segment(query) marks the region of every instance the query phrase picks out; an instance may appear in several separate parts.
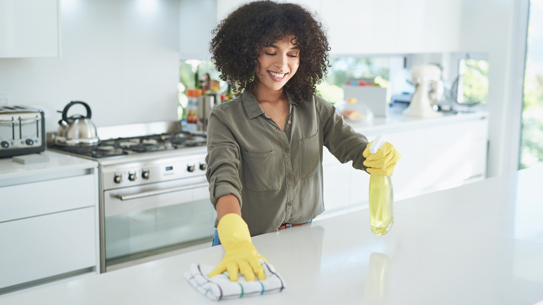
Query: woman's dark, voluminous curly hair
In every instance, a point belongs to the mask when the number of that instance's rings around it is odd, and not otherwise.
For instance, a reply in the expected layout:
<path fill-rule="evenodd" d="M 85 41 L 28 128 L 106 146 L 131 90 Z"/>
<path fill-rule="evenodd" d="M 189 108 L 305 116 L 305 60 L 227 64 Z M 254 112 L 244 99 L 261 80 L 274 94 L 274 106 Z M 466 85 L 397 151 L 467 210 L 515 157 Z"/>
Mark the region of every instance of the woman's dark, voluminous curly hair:
<path fill-rule="evenodd" d="M 255 1 L 230 13 L 212 31 L 212 61 L 223 81 L 237 91 L 253 91 L 258 84 L 255 69 L 262 47 L 272 45 L 285 36 L 299 47 L 299 68 L 285 84 L 285 90 L 301 104 L 315 95 L 316 85 L 326 77 L 329 50 L 322 24 L 305 8 L 294 3 Z"/>

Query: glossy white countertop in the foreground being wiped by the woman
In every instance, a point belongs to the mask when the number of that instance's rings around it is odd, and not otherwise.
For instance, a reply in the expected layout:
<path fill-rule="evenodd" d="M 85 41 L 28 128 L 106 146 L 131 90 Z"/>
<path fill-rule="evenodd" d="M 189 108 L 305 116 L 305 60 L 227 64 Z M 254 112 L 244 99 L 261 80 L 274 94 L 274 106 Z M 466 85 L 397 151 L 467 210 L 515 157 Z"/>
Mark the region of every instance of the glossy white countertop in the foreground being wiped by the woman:
<path fill-rule="evenodd" d="M 368 210 L 253 237 L 283 292 L 235 304 L 535 304 L 543 300 L 543 167 L 395 203 L 372 235 Z M 183 278 L 222 247 L 7 297 L 9 304 L 217 304 Z"/>

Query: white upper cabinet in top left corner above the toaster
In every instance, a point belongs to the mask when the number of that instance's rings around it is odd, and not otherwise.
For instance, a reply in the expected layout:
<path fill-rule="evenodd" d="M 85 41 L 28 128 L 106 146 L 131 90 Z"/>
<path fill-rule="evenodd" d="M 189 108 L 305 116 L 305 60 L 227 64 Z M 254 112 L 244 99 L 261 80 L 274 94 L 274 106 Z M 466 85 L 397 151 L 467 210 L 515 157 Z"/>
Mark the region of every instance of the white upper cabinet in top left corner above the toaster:
<path fill-rule="evenodd" d="M 58 0 L 0 0 L 0 58 L 59 56 Z"/>

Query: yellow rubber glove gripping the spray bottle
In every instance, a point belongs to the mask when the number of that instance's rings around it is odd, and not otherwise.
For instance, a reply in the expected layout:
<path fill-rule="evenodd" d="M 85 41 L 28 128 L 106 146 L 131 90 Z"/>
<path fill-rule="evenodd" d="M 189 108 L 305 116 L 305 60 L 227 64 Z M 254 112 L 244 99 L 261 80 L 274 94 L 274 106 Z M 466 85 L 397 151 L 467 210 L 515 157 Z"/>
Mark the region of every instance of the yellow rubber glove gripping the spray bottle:
<path fill-rule="evenodd" d="M 373 142 L 373 141 L 372 141 Z M 368 167 L 366 171 L 375 175 L 392 175 L 394 166 L 400 159 L 401 155 L 391 143 L 385 142 L 377 153 L 370 153 L 370 142 L 366 146 L 362 155 L 365 157 L 363 164 Z"/>

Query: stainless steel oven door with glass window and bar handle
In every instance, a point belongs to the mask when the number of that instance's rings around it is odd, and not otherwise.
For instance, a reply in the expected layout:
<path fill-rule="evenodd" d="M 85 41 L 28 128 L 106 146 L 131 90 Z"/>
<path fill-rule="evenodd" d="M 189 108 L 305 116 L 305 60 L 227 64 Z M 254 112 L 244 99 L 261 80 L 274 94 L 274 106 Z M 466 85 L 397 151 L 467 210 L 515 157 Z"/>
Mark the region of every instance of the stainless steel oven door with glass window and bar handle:
<path fill-rule="evenodd" d="M 216 216 L 205 176 L 104 191 L 102 264 L 109 271 L 194 244 L 211 245 Z"/>

